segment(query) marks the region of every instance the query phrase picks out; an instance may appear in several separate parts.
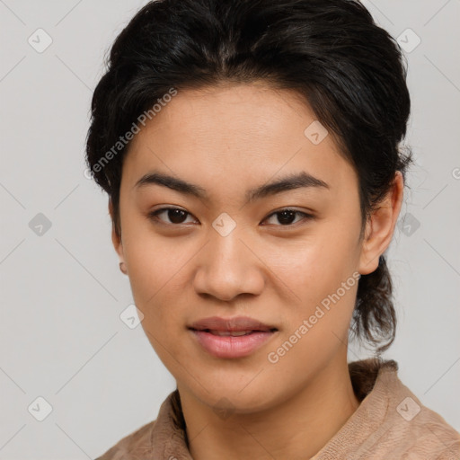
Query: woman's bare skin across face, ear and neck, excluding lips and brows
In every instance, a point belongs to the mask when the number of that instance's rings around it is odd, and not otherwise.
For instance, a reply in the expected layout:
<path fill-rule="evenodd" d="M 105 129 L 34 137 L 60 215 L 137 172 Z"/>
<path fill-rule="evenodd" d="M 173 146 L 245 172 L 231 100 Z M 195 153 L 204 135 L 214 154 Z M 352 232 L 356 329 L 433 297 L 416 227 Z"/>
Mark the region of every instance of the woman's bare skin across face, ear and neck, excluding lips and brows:
<path fill-rule="evenodd" d="M 396 173 L 359 240 L 358 177 L 331 135 L 318 145 L 305 137 L 314 119 L 296 93 L 262 83 L 184 90 L 141 129 L 123 164 L 121 237 L 113 231 L 112 241 L 144 331 L 177 381 L 196 460 L 310 458 L 358 408 L 347 364 L 358 283 L 278 362 L 268 359 L 342 282 L 376 270 L 403 199 Z M 153 171 L 197 184 L 208 198 L 135 187 Z M 329 189 L 245 199 L 299 172 Z M 189 214 L 179 223 L 167 212 L 149 217 L 168 207 Z M 314 218 L 283 225 L 274 214 L 283 208 Z M 226 236 L 212 226 L 224 212 L 236 224 Z M 187 326 L 215 315 L 251 316 L 278 332 L 249 357 L 214 358 Z M 213 410 L 222 404 L 226 416 Z"/>

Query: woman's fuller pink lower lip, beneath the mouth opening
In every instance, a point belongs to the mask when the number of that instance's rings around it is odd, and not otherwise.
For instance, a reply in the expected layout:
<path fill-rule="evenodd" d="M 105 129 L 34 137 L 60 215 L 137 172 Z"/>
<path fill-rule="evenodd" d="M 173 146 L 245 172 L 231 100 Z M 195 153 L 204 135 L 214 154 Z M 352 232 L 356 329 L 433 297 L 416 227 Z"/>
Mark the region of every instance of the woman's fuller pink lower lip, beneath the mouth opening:
<path fill-rule="evenodd" d="M 243 358 L 250 355 L 273 336 L 275 332 L 258 331 L 240 336 L 220 336 L 210 332 L 194 331 L 199 344 L 216 358 Z"/>

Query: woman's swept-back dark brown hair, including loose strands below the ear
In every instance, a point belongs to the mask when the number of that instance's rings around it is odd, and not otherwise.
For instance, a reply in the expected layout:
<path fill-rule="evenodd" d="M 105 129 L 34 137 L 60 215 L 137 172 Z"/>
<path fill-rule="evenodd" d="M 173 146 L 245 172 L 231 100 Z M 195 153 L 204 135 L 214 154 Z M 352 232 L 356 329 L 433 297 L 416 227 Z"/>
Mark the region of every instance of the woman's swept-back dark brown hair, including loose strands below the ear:
<path fill-rule="evenodd" d="M 264 80 L 304 97 L 358 175 L 361 236 L 395 172 L 405 179 L 411 163 L 410 150 L 399 147 L 411 106 L 403 54 L 358 1 L 157 0 L 121 31 L 107 66 L 93 93 L 86 160 L 111 197 L 118 234 L 129 144 L 113 146 L 171 88 Z M 395 326 L 382 255 L 359 279 L 350 331 L 381 352 Z"/>

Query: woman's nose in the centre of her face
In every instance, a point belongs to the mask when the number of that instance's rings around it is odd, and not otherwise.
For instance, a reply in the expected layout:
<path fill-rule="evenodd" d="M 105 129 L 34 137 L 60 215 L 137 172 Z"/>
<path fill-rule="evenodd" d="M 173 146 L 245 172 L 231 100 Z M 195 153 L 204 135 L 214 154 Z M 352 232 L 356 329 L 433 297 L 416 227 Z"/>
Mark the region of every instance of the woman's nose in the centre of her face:
<path fill-rule="evenodd" d="M 264 265 L 251 246 L 236 229 L 222 236 L 211 228 L 197 258 L 196 292 L 226 302 L 241 294 L 260 295 L 266 279 Z"/>

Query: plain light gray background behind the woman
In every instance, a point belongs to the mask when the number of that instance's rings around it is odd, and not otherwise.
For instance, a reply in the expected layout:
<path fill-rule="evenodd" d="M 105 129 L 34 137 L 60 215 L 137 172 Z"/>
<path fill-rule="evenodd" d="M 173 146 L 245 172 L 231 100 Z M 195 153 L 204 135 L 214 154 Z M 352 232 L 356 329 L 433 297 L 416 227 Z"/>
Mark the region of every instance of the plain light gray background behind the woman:
<path fill-rule="evenodd" d="M 102 59 L 145 3 L 0 0 L 1 459 L 102 455 L 155 420 L 175 387 L 141 326 L 119 318 L 132 303 L 128 279 L 107 198 L 84 177 Z M 460 0 L 365 3 L 410 49 L 407 143 L 417 160 L 389 250 L 399 327 L 384 356 L 459 430 Z M 46 44 L 39 28 L 52 39 L 42 52 L 28 42 Z M 408 28 L 421 40 L 414 49 Z M 365 356 L 350 348 L 349 360 Z M 52 406 L 42 421 L 39 396 Z"/>

